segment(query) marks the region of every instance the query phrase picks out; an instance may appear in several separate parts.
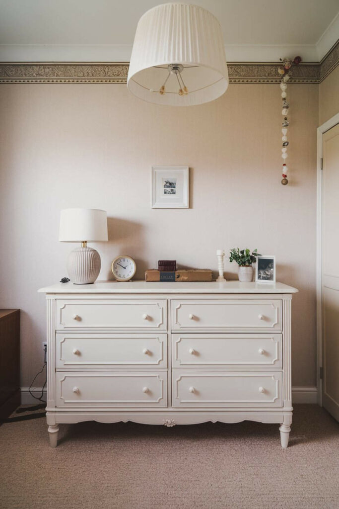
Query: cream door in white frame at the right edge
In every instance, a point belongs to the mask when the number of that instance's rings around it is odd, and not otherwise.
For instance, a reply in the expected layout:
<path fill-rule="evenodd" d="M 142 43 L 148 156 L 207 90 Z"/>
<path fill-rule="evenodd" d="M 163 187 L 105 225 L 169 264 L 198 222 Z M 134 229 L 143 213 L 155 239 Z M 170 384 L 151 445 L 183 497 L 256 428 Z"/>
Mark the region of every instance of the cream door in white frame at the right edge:
<path fill-rule="evenodd" d="M 322 401 L 339 420 L 339 124 L 322 143 Z"/>

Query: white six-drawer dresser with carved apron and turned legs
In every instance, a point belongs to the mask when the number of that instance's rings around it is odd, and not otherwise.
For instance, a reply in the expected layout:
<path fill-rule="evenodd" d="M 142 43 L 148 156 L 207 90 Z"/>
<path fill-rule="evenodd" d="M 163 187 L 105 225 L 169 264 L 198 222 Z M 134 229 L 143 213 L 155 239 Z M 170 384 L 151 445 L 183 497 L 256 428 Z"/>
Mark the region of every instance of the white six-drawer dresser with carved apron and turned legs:
<path fill-rule="evenodd" d="M 295 288 L 217 282 L 71 282 L 47 299 L 47 424 L 292 422 Z"/>

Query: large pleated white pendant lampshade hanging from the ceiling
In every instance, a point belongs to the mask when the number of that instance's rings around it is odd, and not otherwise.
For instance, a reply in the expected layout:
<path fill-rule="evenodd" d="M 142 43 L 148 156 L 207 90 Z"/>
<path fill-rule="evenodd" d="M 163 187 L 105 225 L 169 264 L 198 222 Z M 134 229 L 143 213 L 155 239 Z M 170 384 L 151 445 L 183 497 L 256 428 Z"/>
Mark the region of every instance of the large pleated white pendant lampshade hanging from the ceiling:
<path fill-rule="evenodd" d="M 180 75 L 187 94 L 178 94 L 178 78 L 169 76 L 169 64 L 183 66 Z M 162 4 L 147 11 L 137 26 L 127 86 L 140 99 L 172 106 L 202 104 L 224 94 L 228 71 L 217 18 L 187 4 Z"/>

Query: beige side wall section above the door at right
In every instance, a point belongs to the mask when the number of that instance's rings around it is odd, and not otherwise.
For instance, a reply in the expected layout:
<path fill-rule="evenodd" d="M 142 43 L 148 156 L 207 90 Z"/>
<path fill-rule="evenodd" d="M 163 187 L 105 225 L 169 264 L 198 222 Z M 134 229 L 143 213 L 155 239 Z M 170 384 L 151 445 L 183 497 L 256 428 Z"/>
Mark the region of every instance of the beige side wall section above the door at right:
<path fill-rule="evenodd" d="M 339 66 L 319 85 L 319 125 L 339 112 Z"/>

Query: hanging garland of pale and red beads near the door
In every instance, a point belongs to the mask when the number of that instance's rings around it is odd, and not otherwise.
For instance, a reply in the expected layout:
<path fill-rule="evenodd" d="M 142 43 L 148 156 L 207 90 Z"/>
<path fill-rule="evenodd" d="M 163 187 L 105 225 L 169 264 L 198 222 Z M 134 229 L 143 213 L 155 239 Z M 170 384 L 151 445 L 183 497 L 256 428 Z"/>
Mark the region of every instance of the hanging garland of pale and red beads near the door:
<path fill-rule="evenodd" d="M 281 91 L 282 91 L 282 100 L 283 100 L 282 115 L 284 116 L 284 120 L 282 122 L 282 127 L 283 127 L 282 128 L 282 133 L 283 133 L 283 136 L 282 136 L 282 142 L 283 142 L 282 158 L 284 159 L 282 184 L 283 184 L 283 186 L 286 186 L 286 184 L 288 184 L 288 180 L 287 180 L 288 166 L 287 166 L 285 161 L 286 161 L 286 159 L 288 157 L 288 155 L 287 155 L 287 147 L 288 147 L 288 144 L 289 144 L 288 139 L 287 139 L 287 128 L 288 128 L 288 126 L 290 124 L 289 120 L 287 118 L 287 115 L 289 113 L 290 105 L 287 102 L 287 92 L 286 92 L 286 89 L 287 89 L 287 81 L 292 76 L 291 67 L 292 67 L 292 65 L 300 64 L 301 57 L 300 56 L 296 56 L 293 61 L 291 59 L 288 59 L 288 58 L 280 59 L 280 60 L 281 60 L 283 65 L 278 68 L 278 72 L 279 72 L 279 74 L 282 75 L 282 79 L 281 79 L 281 83 L 280 83 L 280 88 L 281 88 Z"/>

